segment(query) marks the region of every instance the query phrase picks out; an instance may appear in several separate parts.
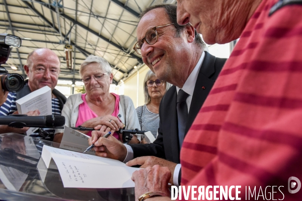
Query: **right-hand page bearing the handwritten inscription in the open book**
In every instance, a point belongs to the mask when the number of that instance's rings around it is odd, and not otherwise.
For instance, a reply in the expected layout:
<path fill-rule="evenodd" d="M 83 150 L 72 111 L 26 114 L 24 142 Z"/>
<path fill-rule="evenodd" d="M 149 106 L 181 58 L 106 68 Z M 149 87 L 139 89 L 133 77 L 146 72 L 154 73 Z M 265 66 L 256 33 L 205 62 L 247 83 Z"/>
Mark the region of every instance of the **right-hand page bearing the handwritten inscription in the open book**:
<path fill-rule="evenodd" d="M 132 173 L 139 168 L 109 166 L 54 158 L 64 187 L 126 188 L 134 187 Z"/>

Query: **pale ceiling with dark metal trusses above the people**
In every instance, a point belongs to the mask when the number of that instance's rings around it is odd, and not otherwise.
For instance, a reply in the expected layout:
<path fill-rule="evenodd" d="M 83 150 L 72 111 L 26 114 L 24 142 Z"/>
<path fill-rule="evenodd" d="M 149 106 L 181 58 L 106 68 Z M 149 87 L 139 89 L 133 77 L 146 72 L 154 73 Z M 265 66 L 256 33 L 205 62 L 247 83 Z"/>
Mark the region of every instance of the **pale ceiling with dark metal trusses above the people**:
<path fill-rule="evenodd" d="M 0 33 L 22 39 L 3 66 L 26 77 L 28 53 L 47 47 L 61 60 L 60 79 L 79 81 L 81 63 L 94 54 L 109 62 L 118 83 L 143 63 L 132 49 L 137 17 L 148 6 L 170 3 L 176 0 L 0 0 Z M 69 67 L 65 45 L 72 46 Z"/>

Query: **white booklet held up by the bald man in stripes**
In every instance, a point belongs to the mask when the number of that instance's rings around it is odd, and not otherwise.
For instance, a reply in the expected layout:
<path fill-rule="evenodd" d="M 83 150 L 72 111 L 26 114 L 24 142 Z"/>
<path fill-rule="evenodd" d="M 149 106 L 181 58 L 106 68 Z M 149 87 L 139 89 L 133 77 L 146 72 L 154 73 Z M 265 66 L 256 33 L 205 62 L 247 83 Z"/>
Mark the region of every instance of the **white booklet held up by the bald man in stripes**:
<path fill-rule="evenodd" d="M 19 114 L 26 114 L 29 111 L 39 110 L 40 116 L 52 114 L 51 108 L 51 88 L 44 86 L 30 94 L 16 100 Z M 29 128 L 26 134 L 29 136 L 38 128 Z"/>

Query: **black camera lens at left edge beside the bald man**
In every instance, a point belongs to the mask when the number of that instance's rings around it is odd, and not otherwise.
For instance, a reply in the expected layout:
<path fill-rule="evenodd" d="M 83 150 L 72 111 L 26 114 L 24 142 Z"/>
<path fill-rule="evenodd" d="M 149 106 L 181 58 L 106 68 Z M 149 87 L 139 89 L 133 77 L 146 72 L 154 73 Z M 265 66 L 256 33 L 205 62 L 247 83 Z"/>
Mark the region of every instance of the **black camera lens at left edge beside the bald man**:
<path fill-rule="evenodd" d="M 8 73 L 1 77 L 2 88 L 10 92 L 18 92 L 24 86 L 24 79 L 17 73 Z"/>

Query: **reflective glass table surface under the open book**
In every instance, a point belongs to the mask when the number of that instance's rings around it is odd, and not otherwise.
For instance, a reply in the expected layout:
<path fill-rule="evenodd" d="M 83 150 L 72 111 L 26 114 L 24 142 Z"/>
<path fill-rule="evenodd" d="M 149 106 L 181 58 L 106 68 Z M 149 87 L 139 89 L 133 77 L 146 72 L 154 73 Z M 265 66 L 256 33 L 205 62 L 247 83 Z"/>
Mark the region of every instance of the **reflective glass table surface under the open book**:
<path fill-rule="evenodd" d="M 135 200 L 134 188 L 64 188 L 58 170 L 47 169 L 43 145 L 58 143 L 9 133 L 0 135 L 2 200 Z"/>

